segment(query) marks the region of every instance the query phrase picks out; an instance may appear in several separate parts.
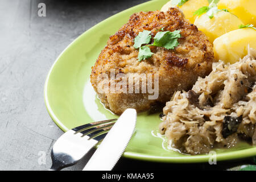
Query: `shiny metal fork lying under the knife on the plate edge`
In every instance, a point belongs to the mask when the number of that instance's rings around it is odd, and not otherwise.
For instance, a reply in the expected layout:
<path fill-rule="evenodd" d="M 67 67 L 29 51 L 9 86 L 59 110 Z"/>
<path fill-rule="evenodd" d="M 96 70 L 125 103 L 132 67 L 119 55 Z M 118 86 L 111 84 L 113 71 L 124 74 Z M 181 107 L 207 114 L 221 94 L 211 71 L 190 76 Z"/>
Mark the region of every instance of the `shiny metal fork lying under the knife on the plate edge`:
<path fill-rule="evenodd" d="M 52 167 L 57 171 L 79 162 L 98 142 L 100 142 L 117 119 L 108 119 L 75 127 L 61 135 L 51 151 Z"/>

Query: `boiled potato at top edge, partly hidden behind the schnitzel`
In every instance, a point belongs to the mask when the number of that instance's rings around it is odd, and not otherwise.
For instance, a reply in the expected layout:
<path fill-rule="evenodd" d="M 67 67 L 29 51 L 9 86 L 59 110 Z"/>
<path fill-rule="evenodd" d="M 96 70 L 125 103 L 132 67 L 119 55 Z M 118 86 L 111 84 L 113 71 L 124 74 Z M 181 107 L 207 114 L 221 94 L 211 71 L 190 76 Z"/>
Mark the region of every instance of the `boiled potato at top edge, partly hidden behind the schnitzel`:
<path fill-rule="evenodd" d="M 183 11 L 185 18 L 189 20 L 189 22 L 194 23 L 196 19 L 196 15 L 194 16 L 194 12 L 198 10 L 202 6 L 209 6 L 208 0 L 188 0 L 182 6 L 178 6 L 181 11 Z M 170 7 L 175 7 L 172 5 L 171 1 L 167 2 L 161 9 L 161 11 L 168 11 Z"/>

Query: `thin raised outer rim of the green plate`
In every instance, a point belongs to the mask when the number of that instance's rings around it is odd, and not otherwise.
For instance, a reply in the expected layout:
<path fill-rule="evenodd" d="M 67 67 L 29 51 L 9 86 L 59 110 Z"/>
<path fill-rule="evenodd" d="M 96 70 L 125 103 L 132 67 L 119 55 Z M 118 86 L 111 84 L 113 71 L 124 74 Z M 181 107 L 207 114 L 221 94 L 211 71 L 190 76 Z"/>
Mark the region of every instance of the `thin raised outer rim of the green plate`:
<path fill-rule="evenodd" d="M 64 132 L 68 131 L 68 128 L 56 117 L 54 114 L 53 110 L 51 109 L 51 105 L 49 104 L 48 100 L 48 94 L 47 94 L 47 88 L 48 88 L 48 81 L 51 76 L 52 70 L 55 67 L 56 63 L 60 59 L 60 57 L 64 54 L 65 51 L 69 47 L 71 47 L 78 39 L 81 38 L 81 36 L 85 36 L 88 34 L 90 31 L 92 31 L 94 28 L 100 26 L 101 23 L 107 22 L 109 19 L 114 18 L 115 16 L 118 16 L 119 14 L 125 13 L 126 11 L 130 11 L 131 9 L 135 9 L 138 6 L 142 6 L 145 4 L 152 3 L 152 1 L 147 1 L 144 3 L 141 3 L 139 5 L 130 7 L 129 9 L 120 11 L 117 14 L 114 14 L 112 16 L 109 16 L 109 18 L 106 18 L 102 20 L 101 22 L 95 24 L 93 27 L 90 27 L 88 30 L 83 32 L 81 35 L 79 35 L 76 39 L 74 39 L 71 43 L 68 44 L 67 47 L 60 53 L 59 56 L 55 59 L 53 62 L 51 68 L 49 69 L 46 77 L 46 81 L 44 82 L 44 103 L 46 104 L 46 109 L 48 111 L 49 116 L 52 118 L 53 122 Z M 243 151 L 241 154 L 241 151 Z M 235 156 L 233 156 L 235 155 Z M 129 152 L 125 151 L 123 155 L 125 158 L 130 158 L 130 159 L 138 159 L 138 160 L 146 160 L 146 161 L 151 161 L 151 162 L 163 162 L 163 163 L 202 163 L 202 162 L 208 162 L 210 156 L 209 155 L 190 155 L 187 156 L 186 158 L 183 158 L 182 156 L 176 156 L 176 157 L 167 157 L 167 156 L 155 156 L 155 155 L 147 155 L 147 154 L 141 154 L 138 152 Z M 256 156 L 256 146 L 252 148 L 246 148 L 238 151 L 230 151 L 230 152 L 224 152 L 221 154 L 217 154 L 216 160 L 217 161 L 222 161 L 222 160 L 234 160 L 234 159 L 243 159 L 243 158 L 248 158 Z"/>

